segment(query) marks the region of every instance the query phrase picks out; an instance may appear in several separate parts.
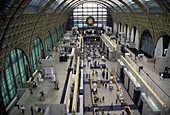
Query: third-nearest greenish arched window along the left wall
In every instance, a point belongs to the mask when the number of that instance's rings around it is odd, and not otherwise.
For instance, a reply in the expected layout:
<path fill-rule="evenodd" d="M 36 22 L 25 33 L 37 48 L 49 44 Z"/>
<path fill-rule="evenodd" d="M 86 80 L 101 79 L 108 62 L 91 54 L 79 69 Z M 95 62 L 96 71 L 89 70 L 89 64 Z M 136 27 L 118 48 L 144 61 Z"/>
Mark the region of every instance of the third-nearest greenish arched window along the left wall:
<path fill-rule="evenodd" d="M 50 32 L 47 33 L 46 39 L 45 39 L 45 56 L 49 54 L 49 51 L 53 48 L 52 46 L 52 39 Z"/>

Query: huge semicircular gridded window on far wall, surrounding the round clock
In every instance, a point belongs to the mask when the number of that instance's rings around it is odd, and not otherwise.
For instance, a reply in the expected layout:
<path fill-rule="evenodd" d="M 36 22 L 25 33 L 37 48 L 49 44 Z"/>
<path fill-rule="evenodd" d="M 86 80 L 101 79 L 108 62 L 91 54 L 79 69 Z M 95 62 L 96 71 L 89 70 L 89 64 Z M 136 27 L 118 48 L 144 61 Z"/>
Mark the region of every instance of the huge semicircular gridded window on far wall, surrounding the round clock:
<path fill-rule="evenodd" d="M 92 16 L 95 19 L 95 23 L 92 26 L 86 24 L 86 19 L 89 16 Z M 111 27 L 113 25 L 111 15 L 107 9 L 93 2 L 84 3 L 75 8 L 69 19 L 69 24 L 73 25 L 72 23 L 79 28 L 101 29 L 104 25 Z"/>

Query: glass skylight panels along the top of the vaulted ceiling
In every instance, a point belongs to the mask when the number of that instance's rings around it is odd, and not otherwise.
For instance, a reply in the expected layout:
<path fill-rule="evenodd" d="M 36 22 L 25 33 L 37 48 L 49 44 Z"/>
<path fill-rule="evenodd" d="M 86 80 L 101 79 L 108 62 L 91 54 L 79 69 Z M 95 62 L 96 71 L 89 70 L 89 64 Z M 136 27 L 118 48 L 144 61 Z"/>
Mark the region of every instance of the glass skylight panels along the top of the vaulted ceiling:
<path fill-rule="evenodd" d="M 14 0 L 0 0 L 0 15 L 5 15 Z M 163 9 L 155 0 L 56 0 L 50 7 L 44 7 L 50 0 L 32 0 L 25 8 L 23 14 L 38 14 L 43 8 L 46 13 L 71 12 L 75 7 L 84 2 L 96 2 L 106 6 L 113 12 L 142 12 L 143 8 L 150 13 L 163 12 Z M 170 3 L 170 0 L 167 0 Z M 142 5 L 144 7 L 142 7 Z M 57 9 L 57 10 L 56 10 Z"/>

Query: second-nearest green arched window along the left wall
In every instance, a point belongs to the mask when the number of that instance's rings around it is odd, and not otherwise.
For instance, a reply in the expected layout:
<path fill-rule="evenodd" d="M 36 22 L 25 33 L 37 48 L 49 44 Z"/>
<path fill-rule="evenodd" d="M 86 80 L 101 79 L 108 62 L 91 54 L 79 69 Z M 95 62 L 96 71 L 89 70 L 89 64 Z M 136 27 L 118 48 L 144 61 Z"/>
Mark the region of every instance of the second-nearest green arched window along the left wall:
<path fill-rule="evenodd" d="M 39 38 L 34 40 L 34 45 L 32 47 L 32 57 L 31 57 L 31 67 L 32 72 L 34 72 L 38 68 L 38 61 L 44 58 L 44 50 L 42 42 Z"/>

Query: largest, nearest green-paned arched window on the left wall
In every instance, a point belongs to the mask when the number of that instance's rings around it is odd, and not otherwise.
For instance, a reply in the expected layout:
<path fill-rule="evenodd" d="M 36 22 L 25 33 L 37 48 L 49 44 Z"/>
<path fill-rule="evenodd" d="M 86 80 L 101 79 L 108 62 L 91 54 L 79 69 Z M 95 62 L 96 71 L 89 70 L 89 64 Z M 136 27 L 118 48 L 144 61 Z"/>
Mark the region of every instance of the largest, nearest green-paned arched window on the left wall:
<path fill-rule="evenodd" d="M 30 77 L 26 55 L 20 49 L 14 49 L 7 59 L 2 77 L 2 97 L 5 107 L 14 99 L 17 88 L 22 87 Z"/>

